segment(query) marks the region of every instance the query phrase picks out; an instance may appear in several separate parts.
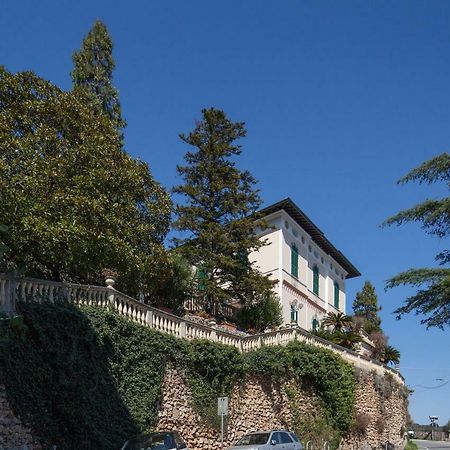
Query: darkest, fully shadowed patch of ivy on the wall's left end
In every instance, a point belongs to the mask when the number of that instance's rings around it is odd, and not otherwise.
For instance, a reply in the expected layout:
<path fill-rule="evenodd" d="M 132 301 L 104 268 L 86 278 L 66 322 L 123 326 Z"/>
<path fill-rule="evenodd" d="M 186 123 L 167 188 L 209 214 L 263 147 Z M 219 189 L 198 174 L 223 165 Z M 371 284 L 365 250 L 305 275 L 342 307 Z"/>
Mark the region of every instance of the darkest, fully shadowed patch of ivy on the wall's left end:
<path fill-rule="evenodd" d="M 105 348 L 88 318 L 71 306 L 30 304 L 22 312 L 26 339 L 11 332 L 0 340 L 0 379 L 36 437 L 47 448 L 106 450 L 135 434 L 111 375 L 112 344 Z"/>

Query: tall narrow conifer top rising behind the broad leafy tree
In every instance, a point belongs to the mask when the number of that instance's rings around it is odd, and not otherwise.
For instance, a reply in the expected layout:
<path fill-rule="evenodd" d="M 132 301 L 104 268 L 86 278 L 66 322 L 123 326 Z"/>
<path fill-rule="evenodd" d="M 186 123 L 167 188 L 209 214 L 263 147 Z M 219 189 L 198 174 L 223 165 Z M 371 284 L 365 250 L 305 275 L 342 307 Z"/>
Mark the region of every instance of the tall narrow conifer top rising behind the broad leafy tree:
<path fill-rule="evenodd" d="M 100 108 L 113 122 L 119 134 L 125 126 L 119 103 L 119 94 L 112 84 L 115 68 L 113 43 L 106 26 L 97 20 L 83 39 L 81 49 L 72 59 L 74 90 L 85 89 L 91 96 L 92 106 Z"/>

